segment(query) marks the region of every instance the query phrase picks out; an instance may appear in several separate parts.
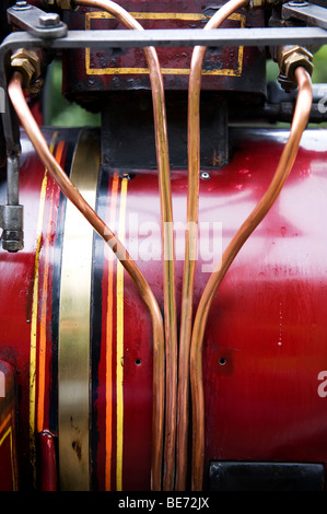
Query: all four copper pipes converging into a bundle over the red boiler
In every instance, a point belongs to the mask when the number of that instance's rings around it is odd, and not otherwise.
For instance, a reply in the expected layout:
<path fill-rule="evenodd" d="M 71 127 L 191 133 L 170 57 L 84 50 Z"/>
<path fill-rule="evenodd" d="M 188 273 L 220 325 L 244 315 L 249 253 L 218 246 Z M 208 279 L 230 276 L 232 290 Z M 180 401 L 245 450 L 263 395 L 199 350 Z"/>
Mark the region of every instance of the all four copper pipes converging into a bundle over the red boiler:
<path fill-rule="evenodd" d="M 116 15 L 129 28 L 142 30 L 132 16 L 124 9 L 110 1 L 80 0 L 78 3 L 102 8 Z M 215 28 L 235 10 L 247 4 L 247 0 L 231 0 L 223 5 L 220 11 L 206 25 L 206 30 Z M 160 191 L 162 205 L 163 234 L 164 226 L 173 227 L 172 196 L 170 185 L 168 148 L 166 135 L 166 118 L 164 106 L 164 91 L 162 75 L 154 48 L 144 49 L 150 69 L 150 78 L 153 93 L 153 107 L 155 118 L 156 151 L 160 175 Z M 253 213 L 241 226 L 234 238 L 231 241 L 222 257 L 222 266 L 212 273 L 201 296 L 194 328 L 191 329 L 192 316 L 192 290 L 195 273 L 195 256 L 197 250 L 197 225 L 198 225 L 198 198 L 199 198 L 199 98 L 201 83 L 201 67 L 206 52 L 206 47 L 196 47 L 192 55 L 190 81 L 189 81 L 189 110 L 188 110 L 188 200 L 186 233 L 186 253 L 183 282 L 182 303 L 182 326 L 180 326 L 180 353 L 179 353 L 179 375 L 178 375 L 178 433 L 177 433 L 177 467 L 176 467 L 176 490 L 185 490 L 187 471 L 187 427 L 188 427 L 188 379 L 191 382 L 192 399 L 192 489 L 202 488 L 203 455 L 205 455 L 205 400 L 202 386 L 202 342 L 207 318 L 209 315 L 212 299 L 225 276 L 229 267 L 236 257 L 245 241 L 260 223 L 278 197 L 284 184 L 293 162 L 295 160 L 300 139 L 306 126 L 308 113 L 312 104 L 311 79 L 303 68 L 297 68 L 295 77 L 299 83 L 299 97 L 294 118 L 291 127 L 289 141 L 284 148 L 275 177 Z M 164 276 L 171 280 L 164 281 L 170 284 L 164 291 L 165 299 L 165 335 L 163 320 L 153 293 L 145 279 L 132 261 L 127 250 L 117 240 L 109 227 L 97 217 L 93 209 L 85 202 L 73 184 L 60 168 L 52 157 L 46 141 L 44 140 L 37 124 L 35 122 L 22 91 L 22 77 L 14 73 L 9 86 L 9 94 L 13 106 L 24 126 L 36 152 L 40 156 L 45 166 L 54 179 L 58 183 L 66 196 L 75 205 L 94 230 L 116 253 L 122 266 L 135 281 L 143 301 L 151 314 L 153 324 L 154 341 L 154 369 L 153 369 L 153 452 L 152 452 L 152 489 L 161 489 L 161 466 L 163 451 L 163 419 L 164 419 L 164 339 L 166 337 L 166 362 L 167 362 L 167 409 L 166 409 L 166 435 L 165 435 L 165 476 L 164 489 L 174 488 L 174 452 L 175 452 L 175 428 L 176 428 L 176 375 L 177 375 L 177 336 L 176 336 L 176 309 L 175 309 L 175 268 L 174 268 L 174 243 L 173 234 L 168 234 L 170 257 L 164 265 Z M 165 222 L 170 221 L 168 225 Z M 173 289 L 172 289 L 173 288 Z M 170 299 L 170 301 L 168 301 Z M 189 371 L 190 354 L 190 371 Z"/>

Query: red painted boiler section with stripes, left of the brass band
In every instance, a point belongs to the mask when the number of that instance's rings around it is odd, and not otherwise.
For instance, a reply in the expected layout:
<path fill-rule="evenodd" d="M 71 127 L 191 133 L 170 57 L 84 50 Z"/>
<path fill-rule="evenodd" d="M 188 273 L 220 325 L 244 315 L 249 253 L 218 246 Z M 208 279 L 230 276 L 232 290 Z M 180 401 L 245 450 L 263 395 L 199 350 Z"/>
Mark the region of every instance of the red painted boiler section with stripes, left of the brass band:
<path fill-rule="evenodd" d="M 58 143 L 62 143 L 60 151 L 61 164 L 68 160 L 70 166 L 71 139 L 74 136 L 61 131 L 61 139 L 58 140 L 52 132 L 45 132 L 48 144 L 56 141 L 54 152 L 58 151 Z M 55 153 L 56 154 L 56 153 Z M 67 156 L 68 155 L 68 156 Z M 33 170 L 33 173 L 31 173 Z M 54 185 L 50 177 L 45 179 L 45 168 L 35 156 L 31 142 L 22 139 L 21 157 L 21 192 L 20 200 L 25 206 L 24 210 L 24 250 L 17 254 L 0 253 L 1 269 L 1 297 L 0 297 L 0 325 L 1 342 L 0 359 L 5 360 L 15 371 L 17 390 L 17 466 L 20 470 L 20 486 L 22 489 L 35 487 L 36 475 L 34 465 L 36 459 L 36 433 L 30 436 L 30 362 L 33 344 L 42 338 L 47 341 L 45 359 L 46 377 L 45 384 L 47 394 L 44 396 L 42 418 L 39 416 L 38 431 L 49 427 L 49 418 L 56 417 L 50 412 L 49 388 L 51 387 L 51 369 L 54 366 L 51 334 L 51 279 L 54 269 L 54 243 L 56 236 L 56 223 L 59 203 L 59 188 Z M 42 203 L 42 185 L 44 184 L 44 214 L 39 217 Z M 5 202 L 5 182 L 2 179 L 0 195 L 1 201 Z M 47 227 L 48 237 L 47 237 Z M 39 265 L 37 255 L 40 256 Z M 47 265 L 45 266 L 47 261 Z M 38 280 L 39 288 L 34 295 L 35 280 Z M 35 302 L 37 308 L 37 323 L 33 325 L 33 308 Z M 43 309 L 43 311 L 42 311 Z M 42 314 L 43 313 L 43 314 Z M 39 344 L 39 342 L 37 342 Z M 38 381 L 38 376 L 35 377 Z M 39 394 L 40 382 L 35 382 L 36 395 Z M 38 407 L 36 406 L 36 411 Z"/>

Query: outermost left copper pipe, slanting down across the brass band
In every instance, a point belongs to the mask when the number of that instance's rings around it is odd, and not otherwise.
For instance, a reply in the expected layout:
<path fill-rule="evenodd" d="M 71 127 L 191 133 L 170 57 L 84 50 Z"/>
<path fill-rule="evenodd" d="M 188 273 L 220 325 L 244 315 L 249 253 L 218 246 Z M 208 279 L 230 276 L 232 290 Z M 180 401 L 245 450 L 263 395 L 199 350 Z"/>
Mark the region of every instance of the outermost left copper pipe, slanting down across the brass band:
<path fill-rule="evenodd" d="M 79 209 L 90 222 L 95 232 L 105 241 L 115 253 L 121 265 L 133 280 L 143 302 L 145 303 L 153 330 L 153 425 L 152 425 L 152 475 L 151 486 L 153 490 L 161 489 L 162 480 L 162 454 L 163 454 L 163 425 L 164 425 L 164 328 L 161 311 L 157 302 L 141 271 L 129 256 L 128 252 L 116 237 L 113 231 L 97 215 L 97 213 L 84 200 L 75 186 L 71 183 L 63 170 L 50 153 L 48 145 L 26 104 L 22 75 L 14 72 L 9 84 L 9 96 L 15 112 L 30 137 L 36 153 L 42 160 L 48 173 L 58 184 L 61 191 Z"/>

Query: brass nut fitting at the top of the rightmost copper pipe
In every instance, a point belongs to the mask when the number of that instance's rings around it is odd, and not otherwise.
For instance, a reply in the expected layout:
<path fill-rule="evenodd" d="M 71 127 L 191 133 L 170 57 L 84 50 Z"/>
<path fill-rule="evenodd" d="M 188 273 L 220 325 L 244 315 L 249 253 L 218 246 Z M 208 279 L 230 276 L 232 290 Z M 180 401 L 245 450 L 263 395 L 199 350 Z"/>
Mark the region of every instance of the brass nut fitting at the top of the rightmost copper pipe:
<path fill-rule="evenodd" d="M 283 87 L 288 91 L 296 86 L 294 71 L 301 66 L 312 75 L 314 70 L 313 54 L 299 45 L 282 46 L 278 49 L 277 62 Z"/>

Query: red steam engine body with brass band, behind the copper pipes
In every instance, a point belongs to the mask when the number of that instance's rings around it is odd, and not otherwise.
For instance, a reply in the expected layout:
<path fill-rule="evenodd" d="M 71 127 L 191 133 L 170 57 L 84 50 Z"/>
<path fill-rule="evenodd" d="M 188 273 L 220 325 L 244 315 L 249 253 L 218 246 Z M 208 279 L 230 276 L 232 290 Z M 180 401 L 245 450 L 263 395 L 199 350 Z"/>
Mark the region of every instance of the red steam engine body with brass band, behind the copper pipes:
<path fill-rule="evenodd" d="M 2 3 L 7 103 L 0 187 L 1 490 L 324 490 L 326 129 L 304 124 L 283 187 L 201 304 L 208 282 L 224 269 L 229 245 L 260 206 L 288 148 L 299 84 L 290 85 L 282 65 L 281 85 L 267 84 L 266 61 L 271 56 L 280 62 L 280 48 L 285 48 L 287 59 L 289 49 L 296 47 L 299 66 L 308 74 L 311 56 L 327 42 L 324 26 L 317 22 L 313 27 L 312 20 L 296 13 L 285 16 L 289 4 L 283 2 L 244 2 L 212 31 L 207 24 L 225 2 L 120 1 L 119 9 L 140 30 L 124 26 L 120 11 L 116 15 L 91 0 Z M 326 23 L 324 2 L 308 5 L 323 12 Z M 58 27 L 68 32 L 45 36 Z M 168 31 L 172 39 L 179 31 L 183 37 L 186 32 L 190 37 L 208 34 L 208 43 L 155 40 L 155 34 Z M 313 31 L 320 39 L 310 42 L 307 36 L 303 46 L 295 39 L 278 44 L 276 38 L 258 38 L 247 44 L 235 36 L 222 45 L 209 39 L 212 33 L 219 40 L 232 31 L 276 31 L 293 38 L 300 32 L 300 39 Z M 153 45 L 138 43 L 137 37 L 148 33 Z M 191 59 L 205 46 L 197 112 L 190 108 Z M 164 179 L 159 171 L 160 117 L 153 109 L 159 93 L 147 48 L 157 55 L 164 86 Z M 32 54 L 39 62 L 38 75 L 34 63 L 24 87 L 32 116 L 74 191 L 115 234 L 114 244 L 112 236 L 104 241 L 106 234 L 94 230 L 84 208 L 71 202 L 51 174 L 50 161 L 42 159 L 37 139 L 28 131 L 32 125 L 24 124 L 15 97 L 8 95 L 20 73 L 24 86 L 24 62 L 34 62 Z M 62 62 L 63 95 L 100 113 L 98 127 L 44 126 L 49 98 L 40 83 L 54 59 Z M 326 118 L 322 91 L 314 89 L 310 122 Z M 190 138 L 197 122 L 198 147 Z M 199 149 L 198 156 L 191 153 L 192 145 Z M 198 194 L 192 195 L 189 170 L 197 159 Z M 11 202 L 14 166 L 19 199 Z M 170 203 L 162 192 L 167 182 L 173 220 L 163 222 L 164 206 Z M 9 226 L 11 203 L 23 206 L 22 227 L 16 218 Z M 195 203 L 196 235 L 189 224 Z M 174 240 L 168 255 L 167 226 Z M 197 246 L 190 258 L 192 296 L 186 315 L 185 248 L 190 233 Z M 125 259 L 117 258 L 119 244 L 128 252 Z M 140 280 L 129 272 L 131 260 L 157 302 L 163 346 L 155 341 L 148 296 L 140 294 Z M 196 316 L 197 323 L 206 320 L 202 344 L 194 329 L 189 353 L 183 357 L 182 323 L 187 325 L 190 318 L 195 327 Z M 167 334 L 177 335 L 171 351 Z M 200 366 L 194 364 L 197 344 Z M 157 351 L 164 355 L 160 364 Z M 197 373 L 203 410 L 194 396 Z M 156 387 L 157 382 L 163 387 Z M 188 390 L 183 419 L 182 384 Z M 157 405 L 164 410 L 162 418 Z M 186 432 L 180 440 L 183 421 Z M 197 447 L 202 448 L 200 482 L 192 478 Z"/>

